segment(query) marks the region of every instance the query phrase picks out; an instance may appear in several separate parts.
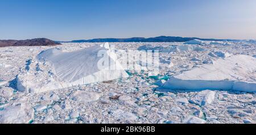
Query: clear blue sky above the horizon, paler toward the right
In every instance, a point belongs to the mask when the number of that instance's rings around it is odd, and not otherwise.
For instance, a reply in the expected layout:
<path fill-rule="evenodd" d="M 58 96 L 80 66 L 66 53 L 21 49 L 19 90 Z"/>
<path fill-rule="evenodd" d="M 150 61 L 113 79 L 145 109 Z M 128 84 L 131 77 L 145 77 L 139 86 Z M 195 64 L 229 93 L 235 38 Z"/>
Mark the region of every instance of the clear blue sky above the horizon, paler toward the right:
<path fill-rule="evenodd" d="M 255 0 L 1 0 L 0 39 L 256 39 Z"/>

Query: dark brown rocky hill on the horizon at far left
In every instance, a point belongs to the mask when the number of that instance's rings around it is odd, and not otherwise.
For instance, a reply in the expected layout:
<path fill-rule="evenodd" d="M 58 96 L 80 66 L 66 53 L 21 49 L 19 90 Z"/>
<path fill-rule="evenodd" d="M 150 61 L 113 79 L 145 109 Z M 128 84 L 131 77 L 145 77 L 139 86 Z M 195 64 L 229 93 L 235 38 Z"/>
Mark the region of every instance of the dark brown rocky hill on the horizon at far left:
<path fill-rule="evenodd" d="M 0 40 L 0 47 L 19 47 L 19 46 L 50 46 L 60 45 L 56 41 L 45 38 L 27 40 Z"/>

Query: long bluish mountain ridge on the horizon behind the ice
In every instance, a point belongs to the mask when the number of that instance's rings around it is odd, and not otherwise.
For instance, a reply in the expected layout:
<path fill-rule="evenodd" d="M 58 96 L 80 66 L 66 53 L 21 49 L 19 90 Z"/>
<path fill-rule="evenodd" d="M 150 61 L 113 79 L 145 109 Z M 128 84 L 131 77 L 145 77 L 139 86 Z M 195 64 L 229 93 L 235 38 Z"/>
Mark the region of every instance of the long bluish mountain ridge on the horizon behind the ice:
<path fill-rule="evenodd" d="M 193 39 L 199 39 L 204 41 L 224 41 L 229 39 L 201 39 L 199 37 L 179 37 L 179 36 L 158 36 L 158 37 L 131 37 L 127 39 L 115 39 L 115 38 L 106 38 L 106 39 L 89 39 L 89 40 L 73 40 L 69 43 L 102 43 L 102 42 L 185 42 Z"/>

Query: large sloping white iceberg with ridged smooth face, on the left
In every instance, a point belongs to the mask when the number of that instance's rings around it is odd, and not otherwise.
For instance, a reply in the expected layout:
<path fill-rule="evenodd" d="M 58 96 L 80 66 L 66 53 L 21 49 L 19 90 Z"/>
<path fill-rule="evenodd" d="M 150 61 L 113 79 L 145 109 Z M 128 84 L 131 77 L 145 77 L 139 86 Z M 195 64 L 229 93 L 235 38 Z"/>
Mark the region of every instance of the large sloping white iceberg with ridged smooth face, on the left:
<path fill-rule="evenodd" d="M 102 58 L 98 57 L 100 50 L 106 50 L 104 58 L 108 58 L 110 64 L 103 69 L 98 68 L 98 62 Z M 108 44 L 96 45 L 74 52 L 48 49 L 39 53 L 36 61 L 49 65 L 52 71 L 40 71 L 42 69 L 38 67 L 39 64 L 34 64 L 36 65 L 34 73 L 30 73 L 34 68 L 33 64 L 30 64 L 27 71 L 18 75 L 17 87 L 19 91 L 43 92 L 129 77 L 116 60 L 115 54 L 108 48 Z M 114 69 L 110 69 L 110 66 Z"/>

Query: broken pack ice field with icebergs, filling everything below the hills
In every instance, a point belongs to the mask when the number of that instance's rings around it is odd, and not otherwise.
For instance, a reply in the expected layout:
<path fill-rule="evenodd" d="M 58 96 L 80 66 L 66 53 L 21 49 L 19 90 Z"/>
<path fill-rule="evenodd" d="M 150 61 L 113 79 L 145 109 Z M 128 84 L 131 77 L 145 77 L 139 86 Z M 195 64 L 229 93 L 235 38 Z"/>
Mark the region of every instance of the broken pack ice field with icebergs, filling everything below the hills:
<path fill-rule="evenodd" d="M 157 51 L 158 74 L 112 53 L 118 69 L 98 69 L 102 43 L 62 44 L 0 49 L 0 123 L 256 123 L 254 40 L 109 43 Z"/>

